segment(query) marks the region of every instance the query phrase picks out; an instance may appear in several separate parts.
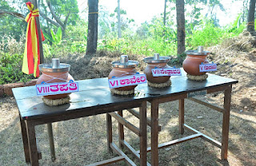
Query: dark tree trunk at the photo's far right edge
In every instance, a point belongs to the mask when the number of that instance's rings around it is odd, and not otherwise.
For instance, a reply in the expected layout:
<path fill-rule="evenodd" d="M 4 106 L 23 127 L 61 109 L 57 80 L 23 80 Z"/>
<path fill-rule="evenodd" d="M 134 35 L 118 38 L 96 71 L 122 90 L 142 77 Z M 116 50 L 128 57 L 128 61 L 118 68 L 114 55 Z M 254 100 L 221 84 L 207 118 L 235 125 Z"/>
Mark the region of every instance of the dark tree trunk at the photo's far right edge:
<path fill-rule="evenodd" d="M 256 0 L 250 0 L 250 6 L 249 6 L 249 12 L 248 12 L 248 18 L 247 18 L 247 30 L 250 32 L 250 34 L 255 33 L 254 29 L 254 13 L 255 13 L 255 2 Z"/>

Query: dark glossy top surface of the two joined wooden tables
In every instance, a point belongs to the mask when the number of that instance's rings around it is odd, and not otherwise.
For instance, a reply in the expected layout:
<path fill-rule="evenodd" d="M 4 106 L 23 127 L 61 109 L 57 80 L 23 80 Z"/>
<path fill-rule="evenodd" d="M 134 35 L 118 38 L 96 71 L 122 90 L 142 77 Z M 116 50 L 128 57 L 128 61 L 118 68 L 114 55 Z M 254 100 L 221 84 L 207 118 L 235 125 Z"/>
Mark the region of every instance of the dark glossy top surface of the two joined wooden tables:
<path fill-rule="evenodd" d="M 190 81 L 186 74 L 180 77 L 171 77 L 172 85 L 163 89 L 155 89 L 147 84 L 138 85 L 135 94 L 119 96 L 110 93 L 108 79 L 95 78 L 78 81 L 79 92 L 70 94 L 70 103 L 66 105 L 48 106 L 38 97 L 35 86 L 27 86 L 13 89 L 19 113 L 22 119 L 35 119 L 49 117 L 51 115 L 62 115 L 78 109 L 94 109 L 108 105 L 125 105 L 132 101 L 149 101 L 155 97 L 168 97 L 177 93 L 190 93 L 213 87 L 231 85 L 238 81 L 226 77 L 220 77 L 208 73 L 206 81 Z"/>

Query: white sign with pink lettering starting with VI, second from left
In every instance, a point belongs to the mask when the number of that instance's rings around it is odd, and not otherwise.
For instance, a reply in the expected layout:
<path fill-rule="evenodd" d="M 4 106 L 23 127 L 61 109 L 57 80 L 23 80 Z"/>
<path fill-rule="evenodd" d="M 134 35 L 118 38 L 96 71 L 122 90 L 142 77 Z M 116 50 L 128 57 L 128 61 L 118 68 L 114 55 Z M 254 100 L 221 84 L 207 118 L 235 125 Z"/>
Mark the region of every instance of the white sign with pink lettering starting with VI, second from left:
<path fill-rule="evenodd" d="M 134 74 L 109 79 L 110 89 L 146 83 L 146 74 Z"/>

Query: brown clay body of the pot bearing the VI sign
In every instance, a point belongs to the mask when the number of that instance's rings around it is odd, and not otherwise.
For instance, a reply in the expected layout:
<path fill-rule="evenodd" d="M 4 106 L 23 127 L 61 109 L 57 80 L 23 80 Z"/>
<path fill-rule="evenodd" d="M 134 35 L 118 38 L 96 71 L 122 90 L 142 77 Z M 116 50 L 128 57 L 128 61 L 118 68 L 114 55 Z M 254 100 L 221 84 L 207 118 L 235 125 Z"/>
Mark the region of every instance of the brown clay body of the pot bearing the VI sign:
<path fill-rule="evenodd" d="M 133 68 L 116 68 L 114 67 L 108 78 L 111 79 L 112 77 L 125 77 L 125 76 L 129 76 L 129 75 L 134 75 L 136 74 L 137 71 L 136 69 Z M 120 88 L 115 88 L 119 91 L 128 91 L 128 90 L 132 90 L 135 89 L 137 85 L 132 85 L 132 86 L 125 86 L 125 87 L 120 87 Z"/>

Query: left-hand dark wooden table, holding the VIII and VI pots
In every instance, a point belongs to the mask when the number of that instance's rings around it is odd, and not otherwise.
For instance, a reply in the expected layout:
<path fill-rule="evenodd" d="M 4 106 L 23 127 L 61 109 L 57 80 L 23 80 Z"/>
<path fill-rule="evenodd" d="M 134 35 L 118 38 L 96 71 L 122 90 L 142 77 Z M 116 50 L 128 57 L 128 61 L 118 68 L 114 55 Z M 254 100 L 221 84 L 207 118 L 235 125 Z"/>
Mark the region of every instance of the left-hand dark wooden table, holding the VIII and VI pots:
<path fill-rule="evenodd" d="M 33 166 L 39 165 L 42 157 L 38 152 L 34 127 L 39 124 L 48 124 L 51 154 L 54 157 L 54 140 L 51 123 L 66 121 L 79 117 L 89 117 L 102 113 L 111 113 L 122 109 L 140 108 L 140 124 L 138 136 L 140 137 L 141 165 L 146 165 L 146 98 L 145 97 L 120 97 L 112 95 L 108 87 L 107 78 L 98 78 L 78 81 L 79 92 L 70 94 L 70 104 L 50 107 L 42 102 L 42 97 L 36 95 L 35 86 L 13 89 L 17 101 L 25 159 Z M 108 117 L 109 119 L 109 117 Z M 107 124 L 110 131 L 111 124 Z M 120 148 L 112 142 L 112 131 L 107 132 L 108 148 L 118 153 L 118 157 L 98 162 L 94 165 L 104 165 L 120 160 L 125 160 L 129 165 L 136 165 Z"/>

